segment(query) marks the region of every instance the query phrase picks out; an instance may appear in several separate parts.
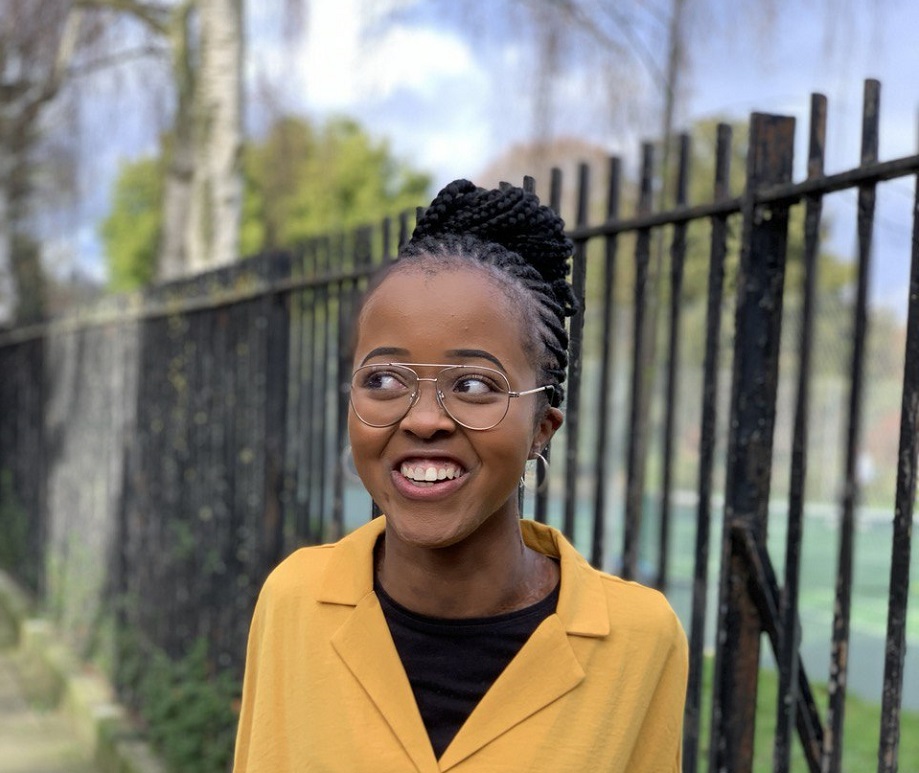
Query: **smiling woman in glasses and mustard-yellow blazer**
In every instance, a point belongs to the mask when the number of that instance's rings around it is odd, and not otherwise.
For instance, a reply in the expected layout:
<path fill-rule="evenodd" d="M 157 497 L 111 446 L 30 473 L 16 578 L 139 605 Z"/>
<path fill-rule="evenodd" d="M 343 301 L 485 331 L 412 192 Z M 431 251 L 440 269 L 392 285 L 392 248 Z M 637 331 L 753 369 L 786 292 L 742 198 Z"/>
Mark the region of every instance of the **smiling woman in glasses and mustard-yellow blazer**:
<path fill-rule="evenodd" d="M 534 195 L 459 180 L 367 293 L 348 430 L 385 515 L 265 583 L 237 773 L 679 770 L 672 610 L 518 512 L 562 423 L 570 253 Z"/>

